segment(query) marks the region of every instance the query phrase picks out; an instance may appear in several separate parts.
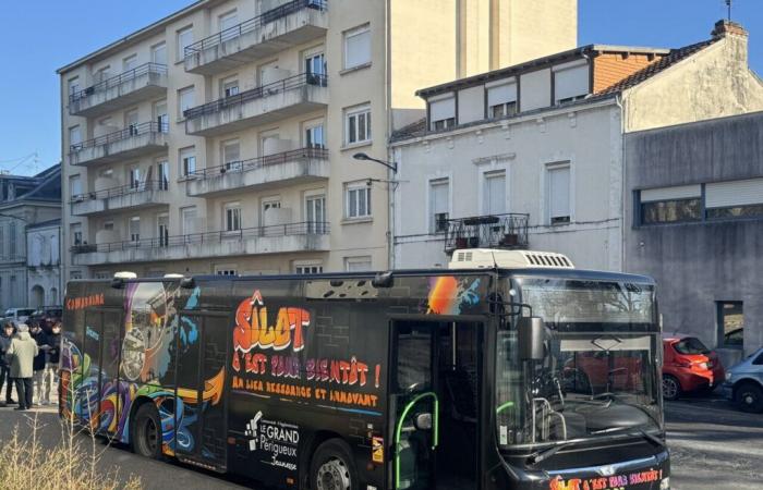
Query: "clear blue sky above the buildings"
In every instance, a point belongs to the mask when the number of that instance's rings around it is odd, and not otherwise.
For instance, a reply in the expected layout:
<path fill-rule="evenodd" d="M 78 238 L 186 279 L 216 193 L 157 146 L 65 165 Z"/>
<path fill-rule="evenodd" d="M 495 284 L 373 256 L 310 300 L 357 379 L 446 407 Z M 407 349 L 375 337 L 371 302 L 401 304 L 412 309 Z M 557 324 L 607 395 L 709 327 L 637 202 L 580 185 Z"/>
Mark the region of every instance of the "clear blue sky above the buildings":
<path fill-rule="evenodd" d="M 43 170 L 60 158 L 56 69 L 193 0 L 4 2 L 0 15 L 0 169 Z M 414 1 L 414 0 L 410 0 Z M 534 0 L 542 1 L 542 0 Z M 679 47 L 706 39 L 724 0 L 578 0 L 579 44 Z M 763 73 L 763 0 L 734 0 L 750 32 L 750 65 Z M 20 160 L 37 152 L 33 158 Z"/>

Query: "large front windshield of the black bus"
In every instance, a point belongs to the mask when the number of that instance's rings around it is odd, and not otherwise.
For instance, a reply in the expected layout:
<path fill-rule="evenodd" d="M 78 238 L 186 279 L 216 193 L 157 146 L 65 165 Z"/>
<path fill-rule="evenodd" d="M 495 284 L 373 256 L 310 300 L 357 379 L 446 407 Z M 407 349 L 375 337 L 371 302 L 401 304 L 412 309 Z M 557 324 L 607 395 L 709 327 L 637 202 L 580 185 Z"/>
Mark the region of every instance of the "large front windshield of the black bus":
<path fill-rule="evenodd" d="M 516 322 L 498 333 L 499 445 L 662 428 L 652 285 L 514 278 L 509 286 L 511 302 L 543 318 L 547 334 L 545 358 L 523 362 Z M 507 317 L 529 315 L 526 306 Z"/>

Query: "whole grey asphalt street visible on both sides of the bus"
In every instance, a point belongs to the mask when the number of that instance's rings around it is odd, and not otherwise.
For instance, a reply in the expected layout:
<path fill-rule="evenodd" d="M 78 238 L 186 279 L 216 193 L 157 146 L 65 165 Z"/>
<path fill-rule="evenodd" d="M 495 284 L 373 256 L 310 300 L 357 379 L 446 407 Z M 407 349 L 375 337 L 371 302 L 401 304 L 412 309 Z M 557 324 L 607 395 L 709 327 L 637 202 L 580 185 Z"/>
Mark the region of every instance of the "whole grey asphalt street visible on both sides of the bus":
<path fill-rule="evenodd" d="M 26 413 L 0 408 L 0 440 L 10 437 L 16 426 L 28 433 L 35 416 L 41 426 L 41 439 L 56 444 L 61 430 L 53 407 Z M 665 419 L 674 490 L 763 488 L 763 416 L 738 412 L 726 401 L 711 397 L 667 403 Z M 104 470 L 119 468 L 122 477 L 140 476 L 146 489 L 258 488 L 251 481 L 138 457 L 118 445 L 99 442 L 98 449 L 104 451 Z"/>

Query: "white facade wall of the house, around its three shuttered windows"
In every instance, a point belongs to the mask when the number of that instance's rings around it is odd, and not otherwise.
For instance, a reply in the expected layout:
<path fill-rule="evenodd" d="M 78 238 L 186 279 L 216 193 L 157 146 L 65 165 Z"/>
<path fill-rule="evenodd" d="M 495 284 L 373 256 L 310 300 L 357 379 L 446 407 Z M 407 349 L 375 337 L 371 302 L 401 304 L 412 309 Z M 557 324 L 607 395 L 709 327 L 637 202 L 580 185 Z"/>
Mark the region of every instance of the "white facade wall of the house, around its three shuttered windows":
<path fill-rule="evenodd" d="M 395 267 L 447 267 L 431 233 L 429 181 L 448 177 L 450 218 L 483 216 L 484 174 L 504 170 L 507 212 L 530 215 L 530 247 L 579 268 L 620 270 L 620 111 L 613 99 L 431 134 L 395 145 Z M 548 221 L 547 167 L 571 167 L 571 223 Z"/>

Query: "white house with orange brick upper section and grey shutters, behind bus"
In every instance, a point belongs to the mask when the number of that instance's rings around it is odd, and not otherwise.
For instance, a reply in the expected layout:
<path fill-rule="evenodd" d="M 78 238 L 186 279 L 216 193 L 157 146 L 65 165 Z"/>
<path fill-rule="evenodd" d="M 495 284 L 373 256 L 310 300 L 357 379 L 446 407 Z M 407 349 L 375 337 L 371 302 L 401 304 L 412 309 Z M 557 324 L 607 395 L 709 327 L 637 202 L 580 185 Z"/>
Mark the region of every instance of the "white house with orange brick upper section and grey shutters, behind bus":
<path fill-rule="evenodd" d="M 419 91 L 397 132 L 396 268 L 457 248 L 532 248 L 623 270 L 626 134 L 758 110 L 747 33 L 680 49 L 585 46 Z M 639 272 L 639 271 L 634 271 Z"/>

